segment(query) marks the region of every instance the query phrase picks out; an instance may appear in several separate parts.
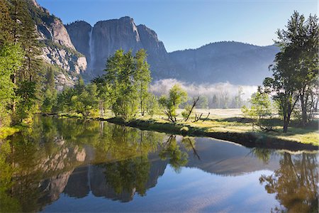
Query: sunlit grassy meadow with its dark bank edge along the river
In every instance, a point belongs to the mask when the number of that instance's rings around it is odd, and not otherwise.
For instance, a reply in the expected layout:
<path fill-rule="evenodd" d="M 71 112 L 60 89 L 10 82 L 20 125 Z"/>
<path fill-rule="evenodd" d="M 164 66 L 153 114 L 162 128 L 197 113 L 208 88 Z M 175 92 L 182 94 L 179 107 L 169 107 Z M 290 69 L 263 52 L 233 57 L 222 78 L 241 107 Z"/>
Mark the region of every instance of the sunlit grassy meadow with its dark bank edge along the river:
<path fill-rule="evenodd" d="M 106 120 L 111 123 L 137 127 L 139 129 L 174 133 L 187 136 L 206 136 L 240 143 L 247 147 L 260 148 L 284 148 L 289 150 L 310 149 L 317 150 L 319 146 L 318 121 L 306 128 L 298 127 L 297 121 L 292 121 L 288 133 L 282 133 L 281 121 L 274 119 L 276 131 L 264 133 L 252 131 L 251 124 L 247 119 L 242 118 L 239 109 L 211 109 L 207 119 L 198 122 L 184 122 L 178 117 L 176 124 L 165 120 L 164 115 L 156 115 L 152 118 L 140 116 L 130 121 L 113 118 L 111 112 L 106 116 L 89 117 L 86 119 Z M 208 110 L 197 110 L 203 113 L 203 118 L 208 115 Z M 84 119 L 79 114 L 59 114 L 62 117 L 74 117 Z"/>

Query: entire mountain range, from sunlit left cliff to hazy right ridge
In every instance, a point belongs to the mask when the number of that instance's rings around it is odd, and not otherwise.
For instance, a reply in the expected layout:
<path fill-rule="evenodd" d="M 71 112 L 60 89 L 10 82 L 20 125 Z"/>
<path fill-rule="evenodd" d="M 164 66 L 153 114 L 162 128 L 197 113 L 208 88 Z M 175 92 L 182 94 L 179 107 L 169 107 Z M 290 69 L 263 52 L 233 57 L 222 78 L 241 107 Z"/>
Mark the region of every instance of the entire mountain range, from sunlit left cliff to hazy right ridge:
<path fill-rule="evenodd" d="M 99 21 L 94 26 L 85 21 L 64 26 L 35 0 L 28 2 L 43 43 L 42 57 L 62 70 L 56 77 L 60 87 L 74 84 L 79 74 L 87 81 L 102 75 L 107 58 L 118 49 L 135 53 L 140 48 L 147 51 L 153 80 L 256 85 L 270 75 L 268 66 L 279 52 L 274 45 L 223 41 L 167 53 L 155 31 L 136 25 L 128 16 Z"/>

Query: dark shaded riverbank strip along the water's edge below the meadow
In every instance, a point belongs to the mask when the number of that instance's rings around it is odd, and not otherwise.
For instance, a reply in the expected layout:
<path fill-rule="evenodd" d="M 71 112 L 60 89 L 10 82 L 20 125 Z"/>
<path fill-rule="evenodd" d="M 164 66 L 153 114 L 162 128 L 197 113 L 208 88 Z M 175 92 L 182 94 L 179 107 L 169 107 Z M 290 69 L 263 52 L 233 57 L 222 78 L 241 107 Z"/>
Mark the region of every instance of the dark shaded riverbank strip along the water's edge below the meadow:
<path fill-rule="evenodd" d="M 181 134 L 184 136 L 211 137 L 225 141 L 239 143 L 243 146 L 252 148 L 274 148 L 287 149 L 290 151 L 298 150 L 318 150 L 318 145 L 313 143 L 301 143 L 298 141 L 284 140 L 279 136 L 267 135 L 259 132 L 243 131 L 214 131 L 206 126 L 197 126 L 196 124 L 172 124 L 156 120 L 134 119 L 128 122 L 123 119 L 111 118 L 106 121 L 113 124 L 131 126 L 142 130 L 159 131 L 164 133 Z"/>

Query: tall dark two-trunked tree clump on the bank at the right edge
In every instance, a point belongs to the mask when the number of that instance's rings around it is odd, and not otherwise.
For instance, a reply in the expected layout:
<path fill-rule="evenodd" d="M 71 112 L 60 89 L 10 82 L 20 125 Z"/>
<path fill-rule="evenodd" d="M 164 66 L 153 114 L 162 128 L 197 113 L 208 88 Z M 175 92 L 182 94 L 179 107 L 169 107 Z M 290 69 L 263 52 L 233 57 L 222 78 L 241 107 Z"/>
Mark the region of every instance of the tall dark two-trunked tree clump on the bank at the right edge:
<path fill-rule="evenodd" d="M 264 80 L 274 100 L 279 104 L 279 113 L 284 118 L 284 132 L 288 131 L 291 113 L 298 99 L 301 101 L 302 121 L 307 121 L 307 93 L 317 84 L 318 77 L 318 18 L 294 12 L 287 30 L 277 31 L 276 43 L 281 52 L 272 66 L 273 77 Z M 313 81 L 315 80 L 315 81 Z"/>

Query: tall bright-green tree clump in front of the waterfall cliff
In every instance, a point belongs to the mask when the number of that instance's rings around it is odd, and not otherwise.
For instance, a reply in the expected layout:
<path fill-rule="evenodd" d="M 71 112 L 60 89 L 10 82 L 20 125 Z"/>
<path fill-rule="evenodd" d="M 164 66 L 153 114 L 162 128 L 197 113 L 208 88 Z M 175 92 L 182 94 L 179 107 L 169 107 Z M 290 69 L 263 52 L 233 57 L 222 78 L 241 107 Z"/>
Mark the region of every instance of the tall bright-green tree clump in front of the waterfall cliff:
<path fill-rule="evenodd" d="M 105 75 L 94 80 L 100 100 L 125 120 L 134 117 L 139 107 L 144 115 L 150 107 L 147 101 L 153 100 L 149 99 L 151 77 L 146 58 L 145 50 L 139 50 L 135 56 L 132 51 L 117 50 L 106 62 Z"/>

